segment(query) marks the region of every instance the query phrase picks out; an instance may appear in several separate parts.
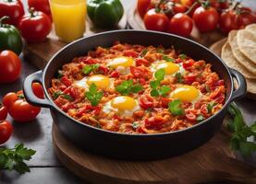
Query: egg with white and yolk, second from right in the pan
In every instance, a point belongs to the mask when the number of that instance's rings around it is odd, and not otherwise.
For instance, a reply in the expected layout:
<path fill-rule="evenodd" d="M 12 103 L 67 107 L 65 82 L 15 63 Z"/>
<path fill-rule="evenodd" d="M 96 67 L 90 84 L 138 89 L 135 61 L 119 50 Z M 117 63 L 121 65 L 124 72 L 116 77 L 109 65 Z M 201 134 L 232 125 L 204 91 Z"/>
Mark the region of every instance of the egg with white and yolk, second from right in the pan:
<path fill-rule="evenodd" d="M 165 62 L 165 61 L 160 61 L 156 63 L 152 63 L 151 65 L 151 71 L 155 73 L 159 69 L 165 69 L 165 75 L 171 75 L 174 76 L 178 72 L 181 75 L 185 74 L 185 69 L 183 68 L 182 64 L 180 63 L 172 63 L 172 62 Z"/>

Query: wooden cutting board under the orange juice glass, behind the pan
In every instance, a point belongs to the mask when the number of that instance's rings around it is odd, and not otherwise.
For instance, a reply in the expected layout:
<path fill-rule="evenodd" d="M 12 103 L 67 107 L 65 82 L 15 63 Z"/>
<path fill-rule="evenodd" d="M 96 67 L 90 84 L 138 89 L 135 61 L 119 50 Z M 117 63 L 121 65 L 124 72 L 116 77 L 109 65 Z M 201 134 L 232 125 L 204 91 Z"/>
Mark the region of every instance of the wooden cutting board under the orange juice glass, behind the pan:
<path fill-rule="evenodd" d="M 126 13 L 119 21 L 116 29 L 126 29 L 127 28 L 127 16 Z M 84 36 L 90 36 L 98 32 L 107 31 L 110 29 L 96 29 L 93 27 L 91 21 L 87 19 L 86 21 L 86 31 Z M 52 56 L 67 45 L 67 42 L 61 41 L 55 35 L 55 28 L 48 35 L 47 39 L 40 43 L 25 43 L 23 48 L 23 54 L 26 61 L 36 66 L 39 69 L 48 63 Z"/>

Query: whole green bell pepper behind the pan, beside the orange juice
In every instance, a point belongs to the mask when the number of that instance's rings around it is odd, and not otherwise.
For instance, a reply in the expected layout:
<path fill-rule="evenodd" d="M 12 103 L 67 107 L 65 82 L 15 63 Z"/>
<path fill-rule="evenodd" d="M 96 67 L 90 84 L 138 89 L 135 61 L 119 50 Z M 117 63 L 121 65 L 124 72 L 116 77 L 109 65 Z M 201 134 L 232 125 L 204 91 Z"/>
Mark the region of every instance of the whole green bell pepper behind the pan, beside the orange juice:
<path fill-rule="evenodd" d="M 114 28 L 123 17 L 124 7 L 119 0 L 88 0 L 87 13 L 99 28 Z"/>

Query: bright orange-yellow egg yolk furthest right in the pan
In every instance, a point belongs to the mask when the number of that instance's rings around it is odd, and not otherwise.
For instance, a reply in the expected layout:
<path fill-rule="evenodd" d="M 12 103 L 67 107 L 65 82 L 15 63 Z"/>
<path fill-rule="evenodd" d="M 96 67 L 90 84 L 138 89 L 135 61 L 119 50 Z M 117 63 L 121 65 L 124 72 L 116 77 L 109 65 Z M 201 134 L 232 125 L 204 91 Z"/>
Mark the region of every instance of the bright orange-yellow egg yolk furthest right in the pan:
<path fill-rule="evenodd" d="M 194 99 L 198 98 L 200 92 L 194 86 L 180 86 L 177 87 L 170 96 L 172 98 L 180 99 L 181 101 L 191 102 Z"/>

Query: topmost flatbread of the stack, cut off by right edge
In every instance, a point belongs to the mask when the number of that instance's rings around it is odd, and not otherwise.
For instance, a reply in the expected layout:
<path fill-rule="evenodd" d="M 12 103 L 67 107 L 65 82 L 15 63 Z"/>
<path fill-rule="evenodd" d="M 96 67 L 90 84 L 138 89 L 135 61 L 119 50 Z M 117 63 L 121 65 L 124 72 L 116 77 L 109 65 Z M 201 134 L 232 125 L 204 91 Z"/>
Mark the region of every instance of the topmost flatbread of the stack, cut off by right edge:
<path fill-rule="evenodd" d="M 248 29 L 238 31 L 238 48 L 253 63 L 256 63 L 256 33 Z"/>

